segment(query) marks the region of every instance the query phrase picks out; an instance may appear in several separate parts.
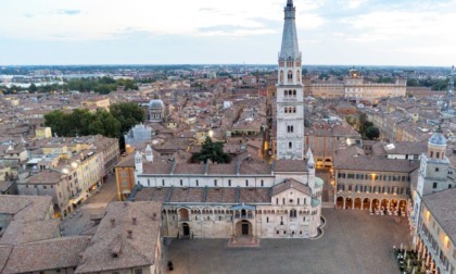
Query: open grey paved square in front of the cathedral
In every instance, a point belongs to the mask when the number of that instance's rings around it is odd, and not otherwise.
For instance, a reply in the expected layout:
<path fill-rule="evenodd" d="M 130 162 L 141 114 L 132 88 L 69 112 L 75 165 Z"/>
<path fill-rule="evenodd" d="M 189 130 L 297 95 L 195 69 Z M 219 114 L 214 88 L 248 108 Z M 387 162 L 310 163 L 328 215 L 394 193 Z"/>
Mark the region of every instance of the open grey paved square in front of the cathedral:
<path fill-rule="evenodd" d="M 400 273 L 392 248 L 410 241 L 406 217 L 335 209 L 322 215 L 319 239 L 261 239 L 250 249 L 228 248 L 228 239 L 173 239 L 168 273 Z"/>

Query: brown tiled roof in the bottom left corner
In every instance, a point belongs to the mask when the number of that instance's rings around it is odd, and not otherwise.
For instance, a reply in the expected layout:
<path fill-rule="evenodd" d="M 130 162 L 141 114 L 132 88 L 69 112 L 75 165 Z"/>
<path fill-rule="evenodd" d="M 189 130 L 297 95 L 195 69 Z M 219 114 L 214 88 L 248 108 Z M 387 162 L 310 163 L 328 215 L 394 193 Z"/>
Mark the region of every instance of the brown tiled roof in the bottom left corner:
<path fill-rule="evenodd" d="M 2 273 L 75 267 L 89 242 L 90 237 L 74 236 L 14 246 Z"/>

